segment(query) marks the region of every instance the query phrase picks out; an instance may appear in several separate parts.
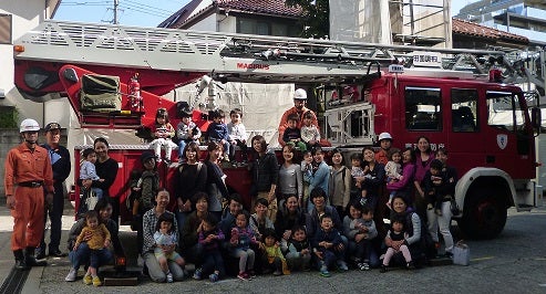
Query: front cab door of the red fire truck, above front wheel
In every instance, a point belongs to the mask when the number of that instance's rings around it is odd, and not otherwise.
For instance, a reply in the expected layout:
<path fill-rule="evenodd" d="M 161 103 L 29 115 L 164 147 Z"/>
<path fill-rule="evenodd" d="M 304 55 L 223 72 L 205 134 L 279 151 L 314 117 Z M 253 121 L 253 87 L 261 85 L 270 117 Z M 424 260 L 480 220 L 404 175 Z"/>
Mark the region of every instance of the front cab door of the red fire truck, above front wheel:
<path fill-rule="evenodd" d="M 486 91 L 486 166 L 499 168 L 514 179 L 534 178 L 533 134 L 519 95 Z"/>

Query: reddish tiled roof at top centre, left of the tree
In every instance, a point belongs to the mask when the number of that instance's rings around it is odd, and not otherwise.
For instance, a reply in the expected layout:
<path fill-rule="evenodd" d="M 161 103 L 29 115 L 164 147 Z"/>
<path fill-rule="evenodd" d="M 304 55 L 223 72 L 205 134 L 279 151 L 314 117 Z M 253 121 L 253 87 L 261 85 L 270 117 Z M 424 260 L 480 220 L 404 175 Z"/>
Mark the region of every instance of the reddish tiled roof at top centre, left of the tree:
<path fill-rule="evenodd" d="M 218 8 L 272 15 L 300 17 L 300 7 L 287 7 L 284 0 L 217 0 Z"/>

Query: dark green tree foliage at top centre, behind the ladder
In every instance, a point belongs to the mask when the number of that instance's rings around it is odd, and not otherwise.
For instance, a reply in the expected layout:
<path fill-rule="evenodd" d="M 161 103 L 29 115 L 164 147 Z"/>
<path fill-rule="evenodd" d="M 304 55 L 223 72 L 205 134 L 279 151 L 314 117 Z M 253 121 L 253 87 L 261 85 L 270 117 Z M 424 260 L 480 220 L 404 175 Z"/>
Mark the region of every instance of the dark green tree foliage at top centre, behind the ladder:
<path fill-rule="evenodd" d="M 303 38 L 324 38 L 330 34 L 330 7 L 328 0 L 286 0 L 288 7 L 301 7 L 300 24 Z"/>

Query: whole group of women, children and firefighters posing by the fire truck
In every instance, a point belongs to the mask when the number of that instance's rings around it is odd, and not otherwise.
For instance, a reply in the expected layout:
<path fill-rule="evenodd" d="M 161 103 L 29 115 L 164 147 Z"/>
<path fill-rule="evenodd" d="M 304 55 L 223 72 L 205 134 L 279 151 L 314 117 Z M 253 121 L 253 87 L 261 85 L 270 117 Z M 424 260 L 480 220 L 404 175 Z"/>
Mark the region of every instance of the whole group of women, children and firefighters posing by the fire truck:
<path fill-rule="evenodd" d="M 246 209 L 240 195 L 228 192 L 222 166 L 224 158 L 234 158 L 230 147 L 246 146 L 239 109 L 230 113 L 227 137 L 212 137 L 205 161 L 199 160 L 196 140 L 200 133 L 194 130 L 189 117 L 183 118 L 181 124 L 186 135 L 179 136 L 183 148 L 179 162 L 174 166 L 172 193 L 159 185 L 158 149 L 142 154 L 143 169 L 132 175 L 128 201 L 144 261 L 143 272 L 152 281 L 183 280 L 187 275 L 186 262 L 196 265 L 194 279 L 207 277 L 212 282 L 229 272 L 241 280 L 253 279 L 256 273 L 284 275 L 311 267 L 322 276 L 330 276 L 332 269 L 347 271 L 348 265 L 362 271 L 380 267 L 387 272 L 393 261 L 414 269 L 425 259 L 425 237 L 439 243 L 439 230 L 445 242 L 445 254 L 451 255 L 450 204 L 457 178 L 455 170 L 446 165 L 447 151 L 433 153 L 425 137 L 418 138 L 415 150 L 398 150 L 391 148 L 391 135 L 383 133 L 378 153 L 364 147 L 346 166 L 344 155 L 333 149 L 330 166 L 318 144 L 320 137 L 282 139 L 298 124 L 302 129 L 308 127 L 318 133 L 315 114 L 305 107 L 306 98 L 305 91 L 296 91 L 295 107 L 281 119 L 280 165 L 260 135 L 251 138 L 248 154 L 244 149 L 241 160 L 248 161 L 245 165 L 251 179 L 251 204 Z M 168 124 L 168 117 L 163 117 L 157 123 Z M 218 126 L 224 124 L 223 114 L 215 113 L 213 119 L 212 128 L 223 133 L 224 126 Z M 50 201 L 51 193 L 58 191 L 54 185 L 65 178 L 53 177 L 56 174 L 51 162 L 58 162 L 59 158 L 53 160 L 45 149 L 37 146 L 40 127 L 34 123 L 21 125 L 25 140 L 10 151 L 6 164 L 10 171 L 6 177 L 8 207 L 16 219 L 23 221 L 16 221 L 12 238 L 16 266 L 20 270 L 43 265 L 34 258 L 34 249 L 43 237 L 38 230 L 43 227 L 43 209 L 29 203 L 37 201 L 43 206 L 43 193 Z M 175 136 L 171 128 L 159 127 L 157 132 L 166 129 L 169 135 L 156 139 Z M 47 133 L 52 129 L 47 127 Z M 229 133 L 237 136 L 231 137 Z M 50 149 L 56 153 L 59 147 L 55 148 Z M 30 156 L 35 160 L 28 160 Z M 65 281 L 75 281 L 79 267 L 87 265 L 83 282 L 97 286 L 101 285 L 97 267 L 112 262 L 113 256 L 125 256 L 117 238 L 120 203 L 112 201 L 109 193 L 117 162 L 110 158 L 104 138 L 95 139 L 85 159 L 91 165 L 82 165 L 86 174 L 80 178 L 79 186 L 101 197 L 93 209 L 80 211 L 82 218 L 71 229 L 68 249 L 72 269 Z M 34 174 L 25 174 L 27 170 Z M 18 183 L 17 189 L 13 183 Z M 172 197 L 176 207 L 168 211 Z M 391 219 L 390 225 L 383 223 L 383 218 Z M 50 254 L 61 254 L 53 232 L 51 240 Z"/>

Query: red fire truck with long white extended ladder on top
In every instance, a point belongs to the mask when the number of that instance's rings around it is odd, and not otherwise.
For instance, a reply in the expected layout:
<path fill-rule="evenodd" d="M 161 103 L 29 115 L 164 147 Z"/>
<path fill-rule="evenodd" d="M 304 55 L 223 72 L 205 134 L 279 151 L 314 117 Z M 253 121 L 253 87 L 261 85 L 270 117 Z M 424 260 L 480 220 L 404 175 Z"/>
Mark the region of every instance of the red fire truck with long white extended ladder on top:
<path fill-rule="evenodd" d="M 202 85 L 212 78 L 295 83 L 312 90 L 332 146 L 360 150 L 389 132 L 395 147 L 414 146 L 426 136 L 433 149 L 447 148 L 461 177 L 455 197 L 462 212 L 454 219 L 467 235 L 494 238 L 507 208 L 536 206 L 532 180 L 539 112 L 527 106 L 526 93 L 505 83 L 526 78 L 526 71 L 502 51 L 45 21 L 16 42 L 14 59 L 20 93 L 31 99 L 69 97 L 85 129 L 142 129 L 153 124 L 157 107 L 177 117 L 176 103 L 162 95 L 204 75 Z M 208 102 L 214 105 L 214 93 Z M 194 119 L 206 124 L 197 111 Z M 111 195 L 121 202 L 146 148 L 111 146 L 120 162 Z M 247 170 L 226 174 L 229 189 L 248 199 Z M 171 175 L 164 175 L 167 182 Z"/>

